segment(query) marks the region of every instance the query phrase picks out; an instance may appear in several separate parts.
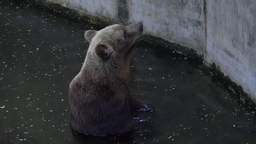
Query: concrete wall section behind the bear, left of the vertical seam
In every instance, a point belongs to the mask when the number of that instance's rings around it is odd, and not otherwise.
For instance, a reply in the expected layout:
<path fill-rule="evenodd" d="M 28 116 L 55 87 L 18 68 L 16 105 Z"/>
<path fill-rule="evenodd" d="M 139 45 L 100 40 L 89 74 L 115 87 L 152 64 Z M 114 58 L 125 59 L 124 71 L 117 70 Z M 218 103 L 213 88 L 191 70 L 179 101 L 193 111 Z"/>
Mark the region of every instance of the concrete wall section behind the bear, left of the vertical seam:
<path fill-rule="evenodd" d="M 121 24 L 143 22 L 144 31 L 193 48 L 205 50 L 203 0 L 48 0 L 81 13 L 107 17 Z"/>

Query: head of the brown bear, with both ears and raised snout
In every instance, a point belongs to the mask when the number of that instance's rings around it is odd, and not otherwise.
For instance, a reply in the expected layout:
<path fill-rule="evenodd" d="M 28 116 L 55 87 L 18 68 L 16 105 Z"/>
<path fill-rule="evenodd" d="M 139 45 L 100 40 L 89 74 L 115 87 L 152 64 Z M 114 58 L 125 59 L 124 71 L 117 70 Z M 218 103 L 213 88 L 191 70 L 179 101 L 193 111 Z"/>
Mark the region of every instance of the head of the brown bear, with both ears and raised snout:
<path fill-rule="evenodd" d="M 114 24 L 99 31 L 88 30 L 84 36 L 90 43 L 88 52 L 96 54 L 101 62 L 118 60 L 129 57 L 137 42 L 142 39 L 143 24 Z"/>

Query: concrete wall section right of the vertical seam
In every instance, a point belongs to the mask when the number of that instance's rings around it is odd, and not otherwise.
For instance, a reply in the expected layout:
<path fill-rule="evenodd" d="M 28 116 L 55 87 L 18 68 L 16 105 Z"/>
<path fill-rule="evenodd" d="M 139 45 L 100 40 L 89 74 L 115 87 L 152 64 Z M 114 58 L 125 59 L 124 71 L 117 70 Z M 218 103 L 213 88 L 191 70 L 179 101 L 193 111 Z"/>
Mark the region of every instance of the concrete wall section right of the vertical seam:
<path fill-rule="evenodd" d="M 256 102 L 256 1 L 206 1 L 206 54 Z"/>

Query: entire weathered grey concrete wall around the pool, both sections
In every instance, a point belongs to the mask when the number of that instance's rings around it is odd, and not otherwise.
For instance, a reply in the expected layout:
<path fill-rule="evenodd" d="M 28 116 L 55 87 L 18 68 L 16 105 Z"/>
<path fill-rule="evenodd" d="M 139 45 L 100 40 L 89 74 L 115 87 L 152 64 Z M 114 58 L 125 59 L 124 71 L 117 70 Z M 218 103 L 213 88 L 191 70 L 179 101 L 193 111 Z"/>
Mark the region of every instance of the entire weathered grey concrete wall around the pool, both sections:
<path fill-rule="evenodd" d="M 256 102 L 255 0 L 48 0 L 192 48 Z M 192 56 L 193 57 L 193 56 Z"/>

